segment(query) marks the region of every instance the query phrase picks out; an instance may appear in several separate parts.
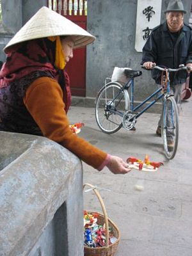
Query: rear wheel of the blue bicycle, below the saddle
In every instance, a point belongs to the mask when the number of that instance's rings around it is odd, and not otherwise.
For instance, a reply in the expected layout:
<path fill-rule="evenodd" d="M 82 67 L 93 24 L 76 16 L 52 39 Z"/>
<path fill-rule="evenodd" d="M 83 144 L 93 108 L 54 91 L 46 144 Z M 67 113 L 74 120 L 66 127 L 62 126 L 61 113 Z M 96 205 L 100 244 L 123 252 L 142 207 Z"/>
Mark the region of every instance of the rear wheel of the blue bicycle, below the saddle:
<path fill-rule="evenodd" d="M 120 83 L 105 84 L 96 99 L 95 117 L 99 128 L 109 134 L 118 131 L 129 106 L 129 93 L 122 90 Z"/>

